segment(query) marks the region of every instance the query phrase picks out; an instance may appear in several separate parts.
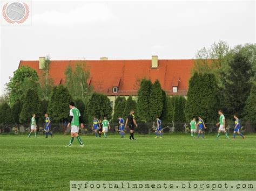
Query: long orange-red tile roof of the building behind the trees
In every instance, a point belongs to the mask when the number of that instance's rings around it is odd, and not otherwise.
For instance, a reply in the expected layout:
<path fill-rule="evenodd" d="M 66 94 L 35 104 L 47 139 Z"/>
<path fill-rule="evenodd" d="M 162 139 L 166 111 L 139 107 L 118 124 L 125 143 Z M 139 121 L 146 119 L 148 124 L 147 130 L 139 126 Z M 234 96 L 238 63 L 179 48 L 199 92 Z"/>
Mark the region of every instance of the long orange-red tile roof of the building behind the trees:
<path fill-rule="evenodd" d="M 151 60 L 51 60 L 49 73 L 54 83 L 65 83 L 66 67 L 75 67 L 76 63 L 86 63 L 91 74 L 88 83 L 106 95 L 137 95 L 143 77 L 152 82 L 158 79 L 169 95 L 186 95 L 193 67 L 193 60 L 158 60 L 158 68 L 151 68 Z M 19 63 L 19 67 L 26 65 L 41 75 L 39 61 Z M 178 86 L 177 93 L 172 92 L 173 86 Z M 119 87 L 118 93 L 112 93 L 113 87 Z"/>

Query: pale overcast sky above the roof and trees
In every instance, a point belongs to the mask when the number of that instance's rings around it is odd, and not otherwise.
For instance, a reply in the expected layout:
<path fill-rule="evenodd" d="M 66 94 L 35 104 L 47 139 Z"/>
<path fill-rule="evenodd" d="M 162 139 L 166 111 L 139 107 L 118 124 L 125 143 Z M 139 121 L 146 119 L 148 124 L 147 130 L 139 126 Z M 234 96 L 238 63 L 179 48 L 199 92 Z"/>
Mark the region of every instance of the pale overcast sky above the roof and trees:
<path fill-rule="evenodd" d="M 0 94 L 20 60 L 48 54 L 52 60 L 191 59 L 214 41 L 255 43 L 255 1 L 29 3 L 26 24 L 4 24 L 1 15 Z"/>

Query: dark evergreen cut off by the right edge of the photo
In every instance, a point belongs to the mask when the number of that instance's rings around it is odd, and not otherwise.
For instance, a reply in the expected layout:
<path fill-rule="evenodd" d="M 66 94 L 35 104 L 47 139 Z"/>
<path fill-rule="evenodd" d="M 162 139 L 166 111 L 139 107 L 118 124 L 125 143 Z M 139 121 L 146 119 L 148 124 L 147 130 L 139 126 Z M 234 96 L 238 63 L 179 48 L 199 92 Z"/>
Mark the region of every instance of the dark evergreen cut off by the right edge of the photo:
<path fill-rule="evenodd" d="M 256 82 L 253 83 L 250 95 L 246 100 L 244 108 L 244 119 L 256 122 Z"/>

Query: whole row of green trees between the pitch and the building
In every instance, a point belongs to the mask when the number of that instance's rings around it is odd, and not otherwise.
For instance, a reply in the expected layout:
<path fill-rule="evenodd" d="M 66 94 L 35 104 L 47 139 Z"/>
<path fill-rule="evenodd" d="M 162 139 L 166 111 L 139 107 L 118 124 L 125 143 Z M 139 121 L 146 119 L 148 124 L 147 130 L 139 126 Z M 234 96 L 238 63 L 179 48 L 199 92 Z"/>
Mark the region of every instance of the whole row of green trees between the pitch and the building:
<path fill-rule="evenodd" d="M 152 122 L 160 117 L 165 122 L 185 122 L 202 116 L 207 122 L 217 121 L 217 111 L 226 118 L 234 114 L 245 121 L 256 121 L 256 45 L 246 44 L 230 48 L 220 41 L 196 54 L 187 96 L 169 96 L 158 80 L 139 79 L 137 96 L 117 97 L 112 109 L 109 98 L 93 91 L 87 84 L 90 70 L 86 62 L 68 66 L 65 83 L 53 86 L 49 75 L 50 58 L 40 77 L 36 70 L 22 66 L 6 84 L 7 95 L 0 99 L 0 124 L 29 123 L 35 113 L 44 122 L 48 112 L 53 122 L 64 122 L 69 115 L 69 101 L 74 101 L 83 121 L 107 117 L 118 122 L 130 110 L 137 121 Z"/>

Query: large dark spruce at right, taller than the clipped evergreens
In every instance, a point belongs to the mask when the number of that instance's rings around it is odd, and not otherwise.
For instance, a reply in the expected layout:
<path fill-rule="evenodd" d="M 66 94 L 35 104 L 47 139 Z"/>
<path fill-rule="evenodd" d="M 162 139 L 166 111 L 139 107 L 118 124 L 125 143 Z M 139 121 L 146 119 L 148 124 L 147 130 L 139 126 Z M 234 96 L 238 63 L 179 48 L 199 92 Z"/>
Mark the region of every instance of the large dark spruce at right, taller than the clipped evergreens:
<path fill-rule="evenodd" d="M 223 73 L 221 81 L 224 85 L 224 111 L 228 117 L 234 113 L 242 115 L 245 102 L 250 94 L 253 77 L 252 63 L 242 49 L 232 52 L 232 57 L 228 60 L 228 72 Z"/>

